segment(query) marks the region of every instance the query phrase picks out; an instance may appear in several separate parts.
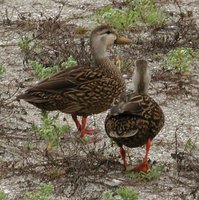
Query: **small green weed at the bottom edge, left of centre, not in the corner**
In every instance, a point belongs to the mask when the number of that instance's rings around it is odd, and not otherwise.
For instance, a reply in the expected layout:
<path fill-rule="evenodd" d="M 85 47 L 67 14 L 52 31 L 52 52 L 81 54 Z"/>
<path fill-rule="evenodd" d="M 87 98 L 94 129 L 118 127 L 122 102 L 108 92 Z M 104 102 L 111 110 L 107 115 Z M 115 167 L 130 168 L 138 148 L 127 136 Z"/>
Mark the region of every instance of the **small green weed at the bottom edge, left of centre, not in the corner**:
<path fill-rule="evenodd" d="M 25 200 L 48 200 L 52 195 L 54 187 L 51 183 L 41 184 L 36 191 L 26 192 Z"/>

